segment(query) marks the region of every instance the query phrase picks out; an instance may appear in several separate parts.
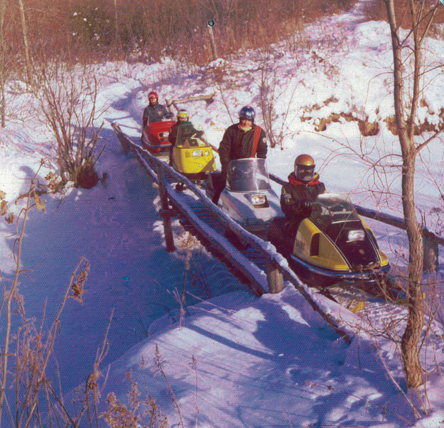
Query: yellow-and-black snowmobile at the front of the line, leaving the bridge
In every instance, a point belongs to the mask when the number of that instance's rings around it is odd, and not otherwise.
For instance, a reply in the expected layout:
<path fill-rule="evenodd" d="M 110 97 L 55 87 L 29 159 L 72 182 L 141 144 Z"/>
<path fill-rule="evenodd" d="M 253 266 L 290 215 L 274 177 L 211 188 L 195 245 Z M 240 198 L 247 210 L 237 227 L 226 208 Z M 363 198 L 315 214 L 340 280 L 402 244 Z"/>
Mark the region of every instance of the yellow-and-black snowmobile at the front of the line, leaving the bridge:
<path fill-rule="evenodd" d="M 308 218 L 275 218 L 270 241 L 307 284 L 380 282 L 390 269 L 370 227 L 348 195 L 323 194 L 311 202 Z"/>

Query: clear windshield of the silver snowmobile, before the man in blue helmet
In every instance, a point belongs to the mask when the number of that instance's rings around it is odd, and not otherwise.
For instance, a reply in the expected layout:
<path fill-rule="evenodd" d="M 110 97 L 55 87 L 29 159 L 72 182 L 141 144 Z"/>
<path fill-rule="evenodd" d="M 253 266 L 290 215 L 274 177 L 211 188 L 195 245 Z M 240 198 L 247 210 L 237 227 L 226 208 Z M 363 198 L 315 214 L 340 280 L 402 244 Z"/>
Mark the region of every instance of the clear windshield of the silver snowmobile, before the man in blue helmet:
<path fill-rule="evenodd" d="M 227 187 L 234 192 L 270 190 L 265 159 L 250 158 L 232 160 L 228 165 Z"/>

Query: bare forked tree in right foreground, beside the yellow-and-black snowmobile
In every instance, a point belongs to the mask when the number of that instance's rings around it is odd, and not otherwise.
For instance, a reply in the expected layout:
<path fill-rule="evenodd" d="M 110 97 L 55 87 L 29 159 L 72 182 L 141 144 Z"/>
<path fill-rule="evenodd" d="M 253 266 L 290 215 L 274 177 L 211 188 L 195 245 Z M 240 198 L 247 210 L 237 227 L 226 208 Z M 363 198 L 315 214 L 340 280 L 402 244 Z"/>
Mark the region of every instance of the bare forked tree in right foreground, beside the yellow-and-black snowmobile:
<path fill-rule="evenodd" d="M 393 51 L 394 106 L 402 156 L 401 200 L 404 220 L 407 225 L 408 252 L 408 320 L 401 339 L 401 354 L 404 363 L 407 386 L 416 388 L 423 383 L 418 345 L 424 325 L 424 302 L 422 293 L 422 237 L 416 218 L 414 177 L 418 153 L 427 146 L 442 130 L 435 132 L 425 141 L 416 144 L 414 127 L 421 93 L 421 47 L 424 42 L 440 1 L 406 0 L 412 19 L 408 35 L 400 38 L 400 27 L 396 23 L 393 0 L 384 0 L 389 17 Z M 412 41 L 412 45 L 409 42 Z M 413 55 L 412 92 L 406 93 L 404 86 L 403 51 Z M 410 95 L 411 108 L 406 111 L 404 98 Z"/>

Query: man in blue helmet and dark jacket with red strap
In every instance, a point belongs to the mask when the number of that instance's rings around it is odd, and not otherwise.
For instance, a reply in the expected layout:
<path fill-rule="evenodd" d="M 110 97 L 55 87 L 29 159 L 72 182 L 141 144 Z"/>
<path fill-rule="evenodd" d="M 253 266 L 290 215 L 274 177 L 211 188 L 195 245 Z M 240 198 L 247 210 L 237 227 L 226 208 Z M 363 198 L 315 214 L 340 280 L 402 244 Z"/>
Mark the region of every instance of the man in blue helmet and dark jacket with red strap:
<path fill-rule="evenodd" d="M 218 203 L 219 196 L 226 185 L 228 164 L 234 159 L 267 157 L 267 141 L 265 131 L 254 125 L 256 113 L 250 105 L 242 107 L 239 111 L 239 123 L 226 129 L 219 144 L 219 158 L 222 166 L 220 183 L 218 183 L 213 196 L 213 202 Z"/>

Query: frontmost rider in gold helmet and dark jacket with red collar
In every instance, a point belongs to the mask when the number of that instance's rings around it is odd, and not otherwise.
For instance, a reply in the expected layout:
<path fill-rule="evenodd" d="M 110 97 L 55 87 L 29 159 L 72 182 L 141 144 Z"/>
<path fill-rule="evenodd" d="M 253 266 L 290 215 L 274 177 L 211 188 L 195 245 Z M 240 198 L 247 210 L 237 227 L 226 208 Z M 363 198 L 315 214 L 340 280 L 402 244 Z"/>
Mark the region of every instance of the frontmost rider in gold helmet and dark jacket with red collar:
<path fill-rule="evenodd" d="M 305 218 L 311 214 L 310 204 L 318 195 L 325 193 L 325 185 L 314 172 L 312 156 L 302 154 L 294 161 L 294 171 L 288 176 L 288 183 L 282 186 L 281 209 L 287 218 Z"/>

